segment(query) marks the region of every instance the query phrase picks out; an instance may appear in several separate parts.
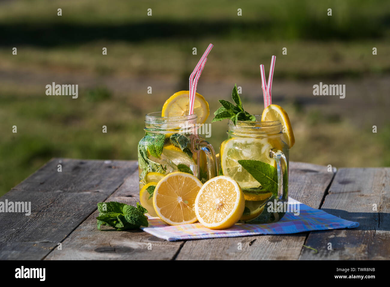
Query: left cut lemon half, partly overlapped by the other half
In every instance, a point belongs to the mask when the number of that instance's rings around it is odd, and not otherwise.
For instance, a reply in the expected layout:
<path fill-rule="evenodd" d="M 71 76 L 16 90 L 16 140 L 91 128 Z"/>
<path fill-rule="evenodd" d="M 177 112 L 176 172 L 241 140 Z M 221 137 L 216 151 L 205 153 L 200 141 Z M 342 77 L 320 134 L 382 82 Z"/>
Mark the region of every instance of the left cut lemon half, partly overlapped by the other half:
<path fill-rule="evenodd" d="M 189 173 L 176 171 L 164 176 L 153 194 L 153 207 L 158 217 L 169 225 L 197 221 L 193 206 L 202 183 Z"/>

